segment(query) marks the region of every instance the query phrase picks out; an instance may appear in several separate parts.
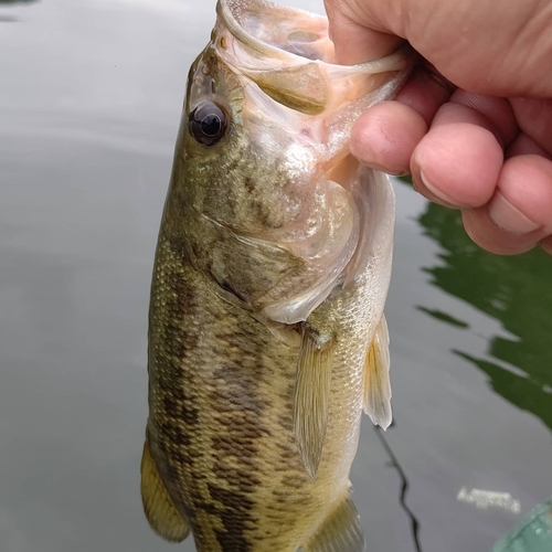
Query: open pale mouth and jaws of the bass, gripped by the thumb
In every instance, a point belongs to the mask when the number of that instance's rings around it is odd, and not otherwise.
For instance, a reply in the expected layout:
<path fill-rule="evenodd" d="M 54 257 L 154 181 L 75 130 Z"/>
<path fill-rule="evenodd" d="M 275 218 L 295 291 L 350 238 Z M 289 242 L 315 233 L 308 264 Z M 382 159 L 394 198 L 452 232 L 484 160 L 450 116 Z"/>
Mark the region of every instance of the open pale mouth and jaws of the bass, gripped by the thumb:
<path fill-rule="evenodd" d="M 407 45 L 373 62 L 336 64 L 327 18 L 307 11 L 263 0 L 219 0 L 216 13 L 217 55 L 273 99 L 306 115 L 370 97 L 413 65 Z"/>

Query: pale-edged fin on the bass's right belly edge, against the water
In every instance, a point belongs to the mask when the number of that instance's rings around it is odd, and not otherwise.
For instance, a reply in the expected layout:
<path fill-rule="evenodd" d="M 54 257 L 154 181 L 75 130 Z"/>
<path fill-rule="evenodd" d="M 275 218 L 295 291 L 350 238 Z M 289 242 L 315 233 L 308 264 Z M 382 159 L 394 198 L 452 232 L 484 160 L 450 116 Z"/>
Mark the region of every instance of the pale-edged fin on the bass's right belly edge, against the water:
<path fill-rule="evenodd" d="M 389 330 L 382 316 L 367 354 L 364 369 L 364 412 L 386 429 L 391 425 L 391 381 L 389 378 Z"/>

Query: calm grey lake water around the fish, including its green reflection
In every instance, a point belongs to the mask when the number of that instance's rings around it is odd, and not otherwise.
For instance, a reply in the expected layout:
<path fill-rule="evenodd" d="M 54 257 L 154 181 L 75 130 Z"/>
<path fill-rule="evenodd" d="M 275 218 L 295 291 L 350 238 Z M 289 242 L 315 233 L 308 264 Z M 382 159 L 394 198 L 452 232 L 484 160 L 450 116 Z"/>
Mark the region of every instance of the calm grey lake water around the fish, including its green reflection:
<path fill-rule="evenodd" d="M 18 21 L 0 23 L 0 550 L 176 550 L 138 491 L 147 305 L 214 0 L 25 3 L 0 8 Z M 372 552 L 489 550 L 552 493 L 551 261 L 484 254 L 455 213 L 396 192 L 396 424 L 364 421 L 354 500 Z"/>

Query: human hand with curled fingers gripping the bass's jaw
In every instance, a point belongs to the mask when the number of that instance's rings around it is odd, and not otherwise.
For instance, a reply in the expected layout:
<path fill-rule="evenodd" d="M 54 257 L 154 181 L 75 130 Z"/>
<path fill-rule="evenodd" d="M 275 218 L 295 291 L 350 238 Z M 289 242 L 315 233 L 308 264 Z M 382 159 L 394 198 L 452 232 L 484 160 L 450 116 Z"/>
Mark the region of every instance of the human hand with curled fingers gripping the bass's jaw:
<path fill-rule="evenodd" d="M 461 210 L 481 247 L 552 253 L 552 4 L 541 0 L 325 0 L 339 63 L 407 40 L 424 61 L 396 100 L 369 109 L 351 151 L 412 172 Z M 453 84 L 454 83 L 454 84 Z"/>

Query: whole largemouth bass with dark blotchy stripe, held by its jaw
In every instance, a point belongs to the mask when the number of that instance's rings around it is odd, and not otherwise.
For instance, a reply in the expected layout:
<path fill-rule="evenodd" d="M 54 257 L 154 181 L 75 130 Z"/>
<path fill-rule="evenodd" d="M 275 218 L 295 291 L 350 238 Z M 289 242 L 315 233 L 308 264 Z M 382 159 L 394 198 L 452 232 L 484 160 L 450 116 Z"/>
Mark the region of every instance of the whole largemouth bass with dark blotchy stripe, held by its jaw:
<path fill-rule="evenodd" d="M 339 66 L 322 17 L 259 0 L 216 11 L 155 261 L 146 516 L 200 552 L 354 552 L 362 408 L 391 422 L 395 208 L 348 139 L 411 55 Z"/>

